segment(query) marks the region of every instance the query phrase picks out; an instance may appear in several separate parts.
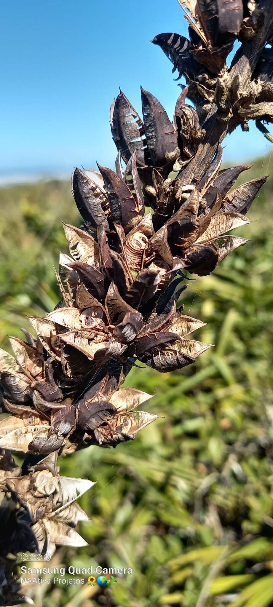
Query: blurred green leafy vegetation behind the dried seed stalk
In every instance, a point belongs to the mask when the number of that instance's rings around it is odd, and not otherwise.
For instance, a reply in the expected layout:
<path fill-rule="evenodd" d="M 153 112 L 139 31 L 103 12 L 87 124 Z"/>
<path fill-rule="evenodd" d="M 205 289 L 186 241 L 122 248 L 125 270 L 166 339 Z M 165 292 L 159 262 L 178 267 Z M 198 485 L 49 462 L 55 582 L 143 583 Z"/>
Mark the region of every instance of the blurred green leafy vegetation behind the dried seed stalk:
<path fill-rule="evenodd" d="M 244 181 L 273 175 L 256 161 Z M 243 181 L 243 179 L 241 179 Z M 0 189 L 0 341 L 25 314 L 59 299 L 53 263 L 67 251 L 61 220 L 80 223 L 67 183 Z M 37 607 L 266 607 L 273 605 L 273 179 L 240 228 L 251 242 L 212 276 L 189 281 L 185 313 L 215 347 L 170 374 L 133 368 L 160 417 L 135 441 L 60 458 L 61 472 L 96 485 L 81 498 L 88 548 L 50 565 L 132 568 L 115 586 L 33 591 Z M 182 301 L 181 300 L 181 301 Z M 143 366 L 143 365 L 141 365 Z M 83 577 L 83 576 L 79 576 Z"/>

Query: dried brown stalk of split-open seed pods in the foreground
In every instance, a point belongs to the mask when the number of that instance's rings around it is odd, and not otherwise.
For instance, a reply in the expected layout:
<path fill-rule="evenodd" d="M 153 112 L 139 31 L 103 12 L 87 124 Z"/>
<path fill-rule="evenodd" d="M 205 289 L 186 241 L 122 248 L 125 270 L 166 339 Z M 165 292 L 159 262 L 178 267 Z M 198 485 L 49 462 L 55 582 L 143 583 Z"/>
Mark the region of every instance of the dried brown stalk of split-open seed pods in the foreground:
<path fill-rule="evenodd" d="M 136 410 L 150 395 L 121 387 L 137 360 L 169 372 L 209 347 L 189 339 L 203 323 L 177 301 L 188 273 L 206 276 L 247 242 L 227 232 L 248 223 L 266 179 L 232 190 L 248 166 L 220 166 L 221 141 L 238 124 L 247 129 L 254 118 L 270 138 L 263 124 L 273 116 L 270 2 L 180 4 L 189 40 L 153 39 L 186 78 L 174 120 L 141 89 L 142 120 L 120 92 L 110 109 L 116 171 L 72 175 L 84 224 L 64 225 L 70 256 L 61 254 L 56 272 L 61 300 L 44 318 L 30 318 L 37 337 L 26 331 L 26 341 L 10 340 L 14 357 L 1 351 L 9 414 L 0 422 L 2 605 L 20 600 L 10 553 L 85 544 L 74 528 L 86 518 L 76 498 L 92 483 L 60 477 L 58 455 L 116 447 L 156 419 Z M 242 43 L 228 69 L 236 38 Z M 27 453 L 22 468 L 10 450 Z"/>

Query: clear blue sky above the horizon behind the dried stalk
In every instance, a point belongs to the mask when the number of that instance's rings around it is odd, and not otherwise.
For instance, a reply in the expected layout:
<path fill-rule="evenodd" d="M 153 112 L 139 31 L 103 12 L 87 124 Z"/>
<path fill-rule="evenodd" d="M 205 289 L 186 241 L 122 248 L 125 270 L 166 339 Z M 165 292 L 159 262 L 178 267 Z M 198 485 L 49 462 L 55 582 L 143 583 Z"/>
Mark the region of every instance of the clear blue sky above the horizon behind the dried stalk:
<path fill-rule="evenodd" d="M 177 0 L 2 0 L 1 21 L 0 175 L 113 166 L 109 106 L 119 86 L 140 111 L 142 85 L 172 118 L 180 89 L 150 39 L 186 35 Z M 270 149 L 254 126 L 237 129 L 224 158 Z"/>

